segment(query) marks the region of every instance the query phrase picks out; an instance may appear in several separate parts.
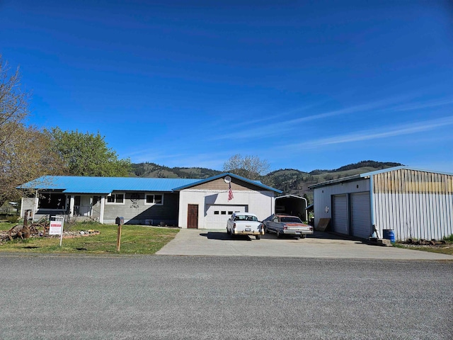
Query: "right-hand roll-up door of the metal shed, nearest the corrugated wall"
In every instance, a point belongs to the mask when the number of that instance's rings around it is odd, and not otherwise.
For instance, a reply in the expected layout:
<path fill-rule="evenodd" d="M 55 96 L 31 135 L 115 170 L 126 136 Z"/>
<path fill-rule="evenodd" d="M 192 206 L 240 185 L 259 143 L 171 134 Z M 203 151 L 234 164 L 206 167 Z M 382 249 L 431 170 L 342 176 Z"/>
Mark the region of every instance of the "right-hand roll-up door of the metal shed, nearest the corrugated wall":
<path fill-rule="evenodd" d="M 352 235 L 367 239 L 372 234 L 369 193 L 351 193 Z"/>

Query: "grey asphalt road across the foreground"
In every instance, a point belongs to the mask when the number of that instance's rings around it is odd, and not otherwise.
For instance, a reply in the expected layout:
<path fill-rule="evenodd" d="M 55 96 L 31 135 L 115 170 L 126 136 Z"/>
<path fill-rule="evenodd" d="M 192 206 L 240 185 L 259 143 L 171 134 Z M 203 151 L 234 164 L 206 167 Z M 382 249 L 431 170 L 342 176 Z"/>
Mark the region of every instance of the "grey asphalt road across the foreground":
<path fill-rule="evenodd" d="M 453 262 L 0 254 L 0 339 L 452 339 Z"/>

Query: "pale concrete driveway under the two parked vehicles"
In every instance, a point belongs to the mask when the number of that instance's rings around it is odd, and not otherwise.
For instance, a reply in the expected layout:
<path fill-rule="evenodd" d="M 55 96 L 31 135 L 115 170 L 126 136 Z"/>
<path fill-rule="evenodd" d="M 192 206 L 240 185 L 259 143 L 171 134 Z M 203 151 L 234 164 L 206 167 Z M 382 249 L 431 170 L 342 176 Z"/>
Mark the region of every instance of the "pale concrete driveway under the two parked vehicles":
<path fill-rule="evenodd" d="M 331 259 L 453 260 L 453 256 L 427 251 L 376 246 L 342 239 L 326 232 L 315 232 L 306 239 L 277 239 L 265 234 L 261 239 L 248 236 L 231 238 L 224 230 L 180 229 L 175 239 L 158 255 L 281 256 Z"/>

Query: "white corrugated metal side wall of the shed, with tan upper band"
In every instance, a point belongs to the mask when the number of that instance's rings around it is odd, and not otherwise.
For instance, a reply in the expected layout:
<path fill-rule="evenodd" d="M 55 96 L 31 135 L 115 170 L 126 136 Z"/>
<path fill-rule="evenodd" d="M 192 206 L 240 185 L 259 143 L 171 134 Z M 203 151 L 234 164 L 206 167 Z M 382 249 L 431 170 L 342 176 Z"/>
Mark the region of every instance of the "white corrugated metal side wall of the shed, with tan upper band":
<path fill-rule="evenodd" d="M 453 234 L 453 176 L 398 169 L 373 175 L 374 222 L 380 236 L 442 239 Z"/>

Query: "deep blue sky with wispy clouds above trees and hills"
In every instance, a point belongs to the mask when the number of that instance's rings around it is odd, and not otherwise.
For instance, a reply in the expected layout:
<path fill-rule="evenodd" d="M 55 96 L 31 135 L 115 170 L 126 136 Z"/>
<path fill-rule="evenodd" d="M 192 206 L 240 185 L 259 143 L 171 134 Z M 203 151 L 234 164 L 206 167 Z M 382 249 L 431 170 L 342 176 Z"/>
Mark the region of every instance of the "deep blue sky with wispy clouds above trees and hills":
<path fill-rule="evenodd" d="M 0 0 L 0 33 L 28 123 L 134 163 L 453 172 L 450 1 Z"/>

